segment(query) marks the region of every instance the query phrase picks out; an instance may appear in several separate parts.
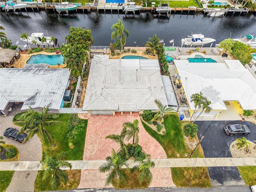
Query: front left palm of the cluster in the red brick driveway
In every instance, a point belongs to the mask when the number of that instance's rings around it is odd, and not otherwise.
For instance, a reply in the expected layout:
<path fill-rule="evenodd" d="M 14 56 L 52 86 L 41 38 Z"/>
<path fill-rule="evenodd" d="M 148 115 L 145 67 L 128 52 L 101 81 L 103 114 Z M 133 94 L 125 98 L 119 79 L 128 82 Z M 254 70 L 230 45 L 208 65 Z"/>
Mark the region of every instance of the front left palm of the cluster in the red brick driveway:
<path fill-rule="evenodd" d="M 126 174 L 122 170 L 122 166 L 126 166 L 127 169 L 129 168 L 126 163 L 126 158 L 117 154 L 115 150 L 112 149 L 111 156 L 106 157 L 106 162 L 99 167 L 101 173 L 110 172 L 106 179 L 106 186 L 110 183 L 113 185 L 115 178 L 118 182 L 126 182 Z"/>

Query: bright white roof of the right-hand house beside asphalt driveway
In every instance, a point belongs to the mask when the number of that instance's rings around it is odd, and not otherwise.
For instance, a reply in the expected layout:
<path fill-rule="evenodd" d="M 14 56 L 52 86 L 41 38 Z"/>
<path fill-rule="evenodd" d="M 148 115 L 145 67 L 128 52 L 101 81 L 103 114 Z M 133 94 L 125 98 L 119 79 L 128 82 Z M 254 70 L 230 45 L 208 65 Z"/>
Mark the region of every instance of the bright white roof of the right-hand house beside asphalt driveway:
<path fill-rule="evenodd" d="M 256 109 L 256 79 L 239 60 L 174 62 L 189 102 L 192 94 L 201 91 L 212 102 L 213 110 L 226 110 L 223 101 L 238 101 L 244 110 Z M 190 108 L 194 110 L 194 103 L 190 102 Z"/>

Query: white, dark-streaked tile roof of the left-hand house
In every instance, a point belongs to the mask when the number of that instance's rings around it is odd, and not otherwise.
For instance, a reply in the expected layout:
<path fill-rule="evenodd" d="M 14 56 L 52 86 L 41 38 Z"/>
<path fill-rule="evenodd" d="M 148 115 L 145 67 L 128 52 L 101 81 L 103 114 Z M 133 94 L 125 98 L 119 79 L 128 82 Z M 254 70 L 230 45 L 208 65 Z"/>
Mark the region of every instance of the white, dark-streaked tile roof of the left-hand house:
<path fill-rule="evenodd" d="M 50 103 L 50 109 L 59 109 L 69 75 L 68 69 L 0 69 L 0 110 L 4 110 L 8 102 L 24 102 L 22 110 Z"/>

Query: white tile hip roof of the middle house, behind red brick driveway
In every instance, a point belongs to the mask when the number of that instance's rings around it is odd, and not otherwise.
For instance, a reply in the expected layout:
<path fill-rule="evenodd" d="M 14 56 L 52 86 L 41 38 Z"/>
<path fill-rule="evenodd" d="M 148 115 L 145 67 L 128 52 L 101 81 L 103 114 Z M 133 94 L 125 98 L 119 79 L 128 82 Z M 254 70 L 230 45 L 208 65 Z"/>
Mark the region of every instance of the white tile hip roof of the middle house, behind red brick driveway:
<path fill-rule="evenodd" d="M 83 110 L 157 110 L 155 99 L 167 105 L 158 60 L 102 58 L 92 59 Z"/>

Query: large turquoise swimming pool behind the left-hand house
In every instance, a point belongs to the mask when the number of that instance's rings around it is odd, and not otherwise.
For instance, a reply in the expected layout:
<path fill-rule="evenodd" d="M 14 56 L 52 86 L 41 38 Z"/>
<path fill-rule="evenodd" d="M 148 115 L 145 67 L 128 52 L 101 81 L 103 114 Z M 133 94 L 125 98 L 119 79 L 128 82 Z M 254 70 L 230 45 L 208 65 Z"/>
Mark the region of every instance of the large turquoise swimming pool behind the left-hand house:
<path fill-rule="evenodd" d="M 49 65 L 57 65 L 63 64 L 64 57 L 62 55 L 33 55 L 30 57 L 30 59 L 27 61 L 27 64 L 40 64 L 40 63 L 46 63 Z"/>

